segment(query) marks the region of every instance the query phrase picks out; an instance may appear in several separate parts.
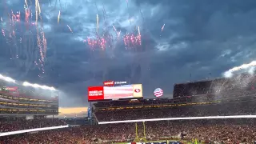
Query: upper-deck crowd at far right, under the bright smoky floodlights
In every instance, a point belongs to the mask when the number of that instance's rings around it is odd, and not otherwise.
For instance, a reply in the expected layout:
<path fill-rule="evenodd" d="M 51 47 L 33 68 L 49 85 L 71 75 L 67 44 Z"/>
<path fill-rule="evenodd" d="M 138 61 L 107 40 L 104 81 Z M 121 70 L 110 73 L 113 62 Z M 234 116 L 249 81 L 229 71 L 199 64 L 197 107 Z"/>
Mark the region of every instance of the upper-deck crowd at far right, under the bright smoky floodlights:
<path fill-rule="evenodd" d="M 214 78 L 199 82 L 187 82 L 174 85 L 174 98 L 200 94 L 216 94 L 226 98 L 238 96 L 246 90 L 255 90 L 254 74 L 239 74 L 232 78 Z M 230 92 L 233 94 L 230 95 Z"/>

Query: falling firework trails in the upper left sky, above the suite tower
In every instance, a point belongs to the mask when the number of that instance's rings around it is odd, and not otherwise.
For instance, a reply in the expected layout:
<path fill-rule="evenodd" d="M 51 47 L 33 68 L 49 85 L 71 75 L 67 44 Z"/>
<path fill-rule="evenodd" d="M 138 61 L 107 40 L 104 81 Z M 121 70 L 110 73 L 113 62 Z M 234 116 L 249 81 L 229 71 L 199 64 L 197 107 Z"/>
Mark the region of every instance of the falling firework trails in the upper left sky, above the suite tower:
<path fill-rule="evenodd" d="M 21 16 L 20 11 L 14 12 L 10 10 L 10 14 L 6 14 L 8 18 L 1 18 L 1 32 L 2 36 L 6 39 L 6 43 L 10 46 L 10 59 L 14 60 L 17 66 L 25 66 L 26 73 L 38 67 L 43 74 L 45 72 L 44 62 L 46 58 L 47 41 L 42 28 L 43 24 L 39 1 L 35 0 L 35 22 L 31 22 L 33 15 L 30 7 L 31 6 L 29 6 L 25 0 L 24 17 Z M 23 20 L 24 24 L 22 24 L 21 18 L 25 18 Z M 40 22 L 40 26 L 38 22 Z M 36 32 L 34 31 L 34 27 L 36 28 Z M 34 33 L 36 33 L 35 38 Z M 34 42 L 35 39 L 36 42 Z"/>

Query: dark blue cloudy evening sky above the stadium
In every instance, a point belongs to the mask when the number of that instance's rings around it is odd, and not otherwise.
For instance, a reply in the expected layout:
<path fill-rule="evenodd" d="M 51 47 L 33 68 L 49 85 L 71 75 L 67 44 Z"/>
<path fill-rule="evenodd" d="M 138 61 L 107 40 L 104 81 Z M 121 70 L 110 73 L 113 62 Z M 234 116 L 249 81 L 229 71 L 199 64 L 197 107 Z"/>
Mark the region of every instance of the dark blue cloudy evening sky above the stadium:
<path fill-rule="evenodd" d="M 255 59 L 255 0 L 129 0 L 128 8 L 126 0 L 39 2 L 47 41 L 45 73 L 34 64 L 40 58 L 35 26 L 16 24 L 17 38 L 10 38 L 8 14 L 20 11 L 24 24 L 24 1 L 0 0 L 0 28 L 5 32 L 0 35 L 0 74 L 57 87 L 62 107 L 88 106 L 87 86 L 102 85 L 103 80 L 142 83 L 145 98 L 154 98 L 160 87 L 171 98 L 174 83 L 219 77 Z M 30 9 L 35 20 L 34 2 Z M 99 34 L 106 29 L 114 36 L 114 46 L 105 51 L 92 51 L 84 42 L 95 36 L 97 13 Z M 117 42 L 112 25 L 121 30 Z M 126 50 L 122 36 L 135 26 L 140 26 L 142 46 Z"/>

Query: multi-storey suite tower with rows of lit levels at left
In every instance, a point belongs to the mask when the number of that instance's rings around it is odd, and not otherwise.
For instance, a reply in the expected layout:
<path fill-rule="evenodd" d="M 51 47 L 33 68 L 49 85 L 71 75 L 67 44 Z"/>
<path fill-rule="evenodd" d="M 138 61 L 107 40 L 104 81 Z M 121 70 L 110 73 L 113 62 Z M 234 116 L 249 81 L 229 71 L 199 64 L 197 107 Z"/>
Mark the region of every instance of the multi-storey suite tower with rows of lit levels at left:
<path fill-rule="evenodd" d="M 58 114 L 58 91 L 28 86 L 0 86 L 0 115 Z"/>

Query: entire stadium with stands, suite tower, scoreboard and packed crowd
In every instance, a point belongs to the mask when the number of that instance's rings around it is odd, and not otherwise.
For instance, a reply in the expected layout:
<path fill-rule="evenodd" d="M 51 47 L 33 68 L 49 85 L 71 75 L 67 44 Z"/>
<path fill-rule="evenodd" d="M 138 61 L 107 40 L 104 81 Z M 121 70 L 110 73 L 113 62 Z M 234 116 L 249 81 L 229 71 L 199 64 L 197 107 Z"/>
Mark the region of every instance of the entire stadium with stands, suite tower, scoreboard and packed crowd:
<path fill-rule="evenodd" d="M 142 84 L 102 82 L 102 86 L 88 87 L 88 116 L 78 119 L 54 118 L 58 115 L 58 90 L 6 79 L 10 78 L 2 77 L 0 95 L 1 143 L 256 140 L 256 77 L 251 74 L 178 83 L 174 98 L 146 99 Z"/>

